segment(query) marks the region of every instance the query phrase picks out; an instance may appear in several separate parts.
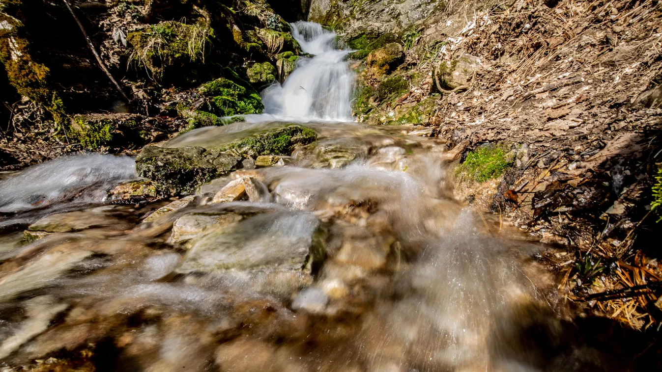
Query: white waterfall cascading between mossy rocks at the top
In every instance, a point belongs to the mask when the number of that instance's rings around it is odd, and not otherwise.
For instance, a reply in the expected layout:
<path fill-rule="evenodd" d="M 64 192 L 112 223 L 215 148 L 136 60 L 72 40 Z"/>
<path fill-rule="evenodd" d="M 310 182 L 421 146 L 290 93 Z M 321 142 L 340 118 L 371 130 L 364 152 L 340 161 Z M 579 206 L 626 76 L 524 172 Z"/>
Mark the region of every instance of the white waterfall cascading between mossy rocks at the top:
<path fill-rule="evenodd" d="M 350 50 L 336 50 L 336 33 L 320 24 L 299 21 L 292 25 L 292 35 L 303 52 L 297 69 L 281 86 L 273 83 L 261 96 L 265 114 L 297 120 L 354 122 L 350 98 L 354 73 L 344 61 Z"/>

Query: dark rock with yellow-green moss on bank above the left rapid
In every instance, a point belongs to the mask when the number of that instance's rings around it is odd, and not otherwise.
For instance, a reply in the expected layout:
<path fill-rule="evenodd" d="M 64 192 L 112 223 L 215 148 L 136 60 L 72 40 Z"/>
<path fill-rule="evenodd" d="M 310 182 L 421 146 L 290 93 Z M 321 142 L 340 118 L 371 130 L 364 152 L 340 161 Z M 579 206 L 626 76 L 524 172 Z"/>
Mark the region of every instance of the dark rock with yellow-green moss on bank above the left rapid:
<path fill-rule="evenodd" d="M 141 128 L 142 116 L 136 114 L 85 114 L 71 118 L 68 135 L 84 149 L 101 146 L 142 145 L 149 135 Z"/>

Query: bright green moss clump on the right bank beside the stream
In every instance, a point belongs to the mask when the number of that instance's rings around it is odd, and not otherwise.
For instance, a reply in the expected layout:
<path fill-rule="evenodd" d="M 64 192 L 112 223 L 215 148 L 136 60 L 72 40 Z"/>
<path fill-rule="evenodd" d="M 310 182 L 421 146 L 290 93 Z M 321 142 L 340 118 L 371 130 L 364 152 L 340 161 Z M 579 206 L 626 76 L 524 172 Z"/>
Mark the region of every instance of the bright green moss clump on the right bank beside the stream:
<path fill-rule="evenodd" d="M 457 172 L 476 182 L 485 182 L 503 174 L 513 161 L 506 145 L 487 145 L 469 152 Z"/>

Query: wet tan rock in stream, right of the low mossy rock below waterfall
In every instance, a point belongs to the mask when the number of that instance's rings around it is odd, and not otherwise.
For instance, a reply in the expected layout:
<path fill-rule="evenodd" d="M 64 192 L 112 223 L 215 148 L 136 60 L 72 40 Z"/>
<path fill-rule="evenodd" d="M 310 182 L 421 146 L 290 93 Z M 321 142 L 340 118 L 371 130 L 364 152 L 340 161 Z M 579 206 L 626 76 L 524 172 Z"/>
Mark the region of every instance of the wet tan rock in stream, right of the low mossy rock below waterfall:
<path fill-rule="evenodd" d="M 370 145 L 353 137 L 328 139 L 314 149 L 314 168 L 341 168 L 357 158 L 367 157 Z"/>

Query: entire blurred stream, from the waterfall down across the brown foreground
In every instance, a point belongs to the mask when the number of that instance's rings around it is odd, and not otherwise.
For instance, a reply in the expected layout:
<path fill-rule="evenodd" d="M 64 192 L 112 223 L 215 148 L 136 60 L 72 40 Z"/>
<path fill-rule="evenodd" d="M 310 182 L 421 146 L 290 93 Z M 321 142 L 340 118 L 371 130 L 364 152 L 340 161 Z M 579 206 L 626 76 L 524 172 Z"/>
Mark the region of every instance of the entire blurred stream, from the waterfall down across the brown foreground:
<path fill-rule="evenodd" d="M 107 200 L 134 177 L 126 157 L 0 181 L 2 370 L 627 370 L 563 317 L 532 259 L 546 247 L 454 201 L 443 143 L 351 122 L 335 34 L 293 34 L 314 57 L 263 93 L 270 116 L 162 144 L 308 122 L 318 140 L 285 166 L 137 205 Z M 215 203 L 232 182 L 247 195 Z"/>

